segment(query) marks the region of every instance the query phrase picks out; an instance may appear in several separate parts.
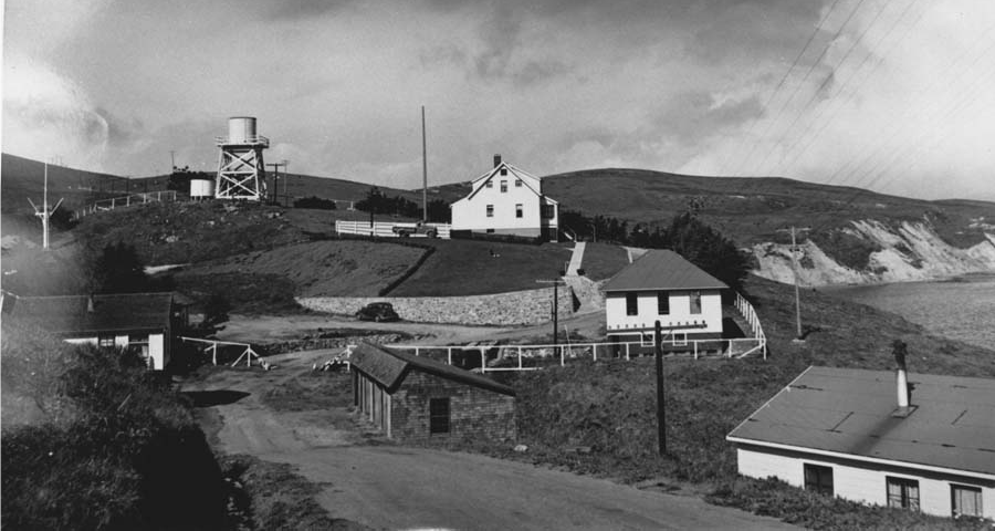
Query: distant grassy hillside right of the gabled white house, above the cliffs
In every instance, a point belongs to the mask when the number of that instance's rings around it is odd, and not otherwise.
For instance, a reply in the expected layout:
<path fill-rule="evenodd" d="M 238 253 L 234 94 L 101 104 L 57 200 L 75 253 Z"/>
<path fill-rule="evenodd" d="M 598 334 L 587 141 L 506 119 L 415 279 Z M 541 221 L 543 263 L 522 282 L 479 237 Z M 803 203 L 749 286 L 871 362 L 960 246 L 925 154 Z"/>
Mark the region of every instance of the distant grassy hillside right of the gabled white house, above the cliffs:
<path fill-rule="evenodd" d="M 739 244 L 784 241 L 777 230 L 795 225 L 831 229 L 849 220 L 886 223 L 929 219 L 947 242 L 966 247 L 983 240 L 981 217 L 995 219 L 995 204 L 926 201 L 846 186 L 785 178 L 695 177 L 641 169 L 591 169 L 543 178 L 543 189 L 564 209 L 637 222 L 667 222 L 700 200 L 700 216 Z"/>

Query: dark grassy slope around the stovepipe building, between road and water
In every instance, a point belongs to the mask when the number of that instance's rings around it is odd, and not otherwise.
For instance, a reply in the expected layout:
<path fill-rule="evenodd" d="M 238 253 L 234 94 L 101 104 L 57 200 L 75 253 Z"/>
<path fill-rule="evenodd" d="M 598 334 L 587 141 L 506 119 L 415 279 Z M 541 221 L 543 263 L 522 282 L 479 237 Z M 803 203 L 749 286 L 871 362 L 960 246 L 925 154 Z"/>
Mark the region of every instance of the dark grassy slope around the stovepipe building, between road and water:
<path fill-rule="evenodd" d="M 894 339 L 909 344 L 914 373 L 995 376 L 992 352 L 930 336 L 898 315 L 815 291 L 802 298 L 807 341 L 794 344 L 793 291 L 754 277 L 745 288 L 764 323 L 771 355 L 767 361 L 668 360 L 667 457 L 656 452 L 656 384 L 649 357 L 502 375 L 519 393 L 520 441 L 530 447 L 531 459 L 628 482 L 689 486 L 712 492 L 713 501 L 821 529 L 849 529 L 861 518 L 868 518 L 871 528 L 909 522 L 971 528 L 970 522 L 917 513 L 892 519 L 891 511 L 828 499 L 810 502 L 813 496 L 805 491 L 739 478 L 735 449 L 725 435 L 809 365 L 892 368 Z M 578 446 L 590 452 L 568 451 Z M 491 446 L 490 451 L 515 456 L 504 447 Z"/>

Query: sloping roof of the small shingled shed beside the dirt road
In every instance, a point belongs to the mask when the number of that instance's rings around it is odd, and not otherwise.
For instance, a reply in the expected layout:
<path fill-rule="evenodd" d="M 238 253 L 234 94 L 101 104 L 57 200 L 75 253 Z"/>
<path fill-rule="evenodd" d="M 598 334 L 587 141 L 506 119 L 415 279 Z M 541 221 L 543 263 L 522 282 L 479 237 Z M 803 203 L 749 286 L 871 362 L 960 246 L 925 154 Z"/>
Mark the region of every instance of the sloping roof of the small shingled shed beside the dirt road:
<path fill-rule="evenodd" d="M 386 387 L 388 393 L 397 391 L 409 371 L 417 369 L 440 378 L 481 387 L 503 395 L 515 396 L 513 388 L 499 384 L 486 376 L 463 371 L 425 356 L 416 356 L 407 352 L 376 346 L 369 343 L 360 343 L 356 348 L 353 348 L 353 354 L 349 356 L 349 365 Z"/>

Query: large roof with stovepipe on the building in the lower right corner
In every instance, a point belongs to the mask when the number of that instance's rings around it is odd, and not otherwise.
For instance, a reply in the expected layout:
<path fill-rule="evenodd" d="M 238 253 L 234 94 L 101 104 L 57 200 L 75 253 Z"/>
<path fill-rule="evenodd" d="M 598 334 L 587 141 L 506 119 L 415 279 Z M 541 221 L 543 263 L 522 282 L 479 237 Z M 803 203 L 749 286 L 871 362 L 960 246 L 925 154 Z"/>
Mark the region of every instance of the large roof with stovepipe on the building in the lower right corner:
<path fill-rule="evenodd" d="M 808 367 L 727 439 L 995 479 L 995 379 L 908 378 L 915 408 L 899 417 L 893 372 Z"/>

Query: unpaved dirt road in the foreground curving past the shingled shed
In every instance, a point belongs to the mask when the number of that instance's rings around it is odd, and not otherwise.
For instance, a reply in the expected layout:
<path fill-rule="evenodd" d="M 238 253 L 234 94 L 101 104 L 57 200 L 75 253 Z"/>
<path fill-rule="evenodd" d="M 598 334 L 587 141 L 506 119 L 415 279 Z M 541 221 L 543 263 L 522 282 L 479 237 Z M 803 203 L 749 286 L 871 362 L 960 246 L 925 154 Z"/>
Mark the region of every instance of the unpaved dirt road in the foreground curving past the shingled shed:
<path fill-rule="evenodd" d="M 186 391 L 237 398 L 210 407 L 221 416 L 221 448 L 296 466 L 323 486 L 316 498 L 337 518 L 386 529 L 793 529 L 694 497 L 479 455 L 396 446 L 357 427 L 345 407 L 276 413 L 260 400 L 268 388 L 286 385 L 329 354 L 273 356 L 279 368 L 270 373 L 223 371 Z M 338 381 L 346 385 L 348 378 Z"/>

